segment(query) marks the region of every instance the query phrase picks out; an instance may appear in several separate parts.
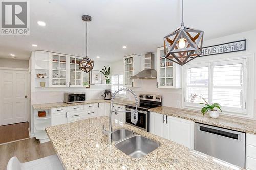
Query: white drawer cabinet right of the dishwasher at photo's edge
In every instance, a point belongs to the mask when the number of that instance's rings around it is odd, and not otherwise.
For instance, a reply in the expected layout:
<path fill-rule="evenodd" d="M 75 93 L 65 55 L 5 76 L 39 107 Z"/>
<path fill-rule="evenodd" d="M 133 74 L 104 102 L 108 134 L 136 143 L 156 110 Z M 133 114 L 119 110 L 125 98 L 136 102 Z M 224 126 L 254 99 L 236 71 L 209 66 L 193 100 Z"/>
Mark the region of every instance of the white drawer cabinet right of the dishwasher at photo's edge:
<path fill-rule="evenodd" d="M 256 169 L 256 135 L 246 133 L 245 167 L 249 170 Z"/>

